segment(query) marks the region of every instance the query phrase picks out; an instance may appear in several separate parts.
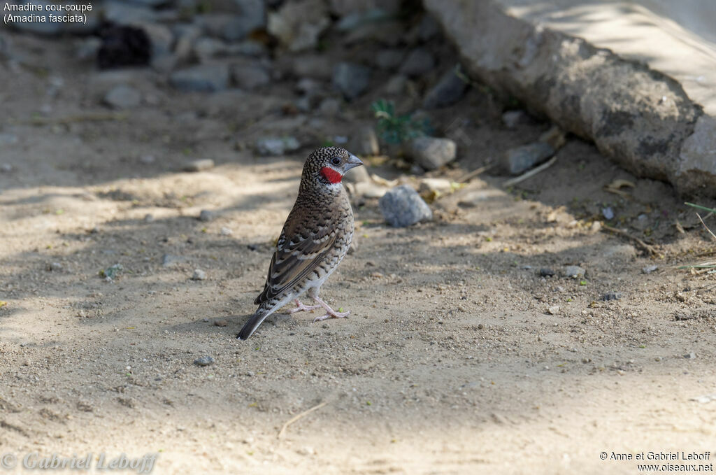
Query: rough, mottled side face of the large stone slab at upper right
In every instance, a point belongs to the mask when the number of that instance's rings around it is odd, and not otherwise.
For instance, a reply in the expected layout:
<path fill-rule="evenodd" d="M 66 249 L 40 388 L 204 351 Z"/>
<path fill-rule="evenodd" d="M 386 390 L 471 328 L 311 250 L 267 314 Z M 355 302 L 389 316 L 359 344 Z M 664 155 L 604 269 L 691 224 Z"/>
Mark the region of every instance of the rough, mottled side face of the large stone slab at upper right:
<path fill-rule="evenodd" d="M 424 0 L 470 75 L 638 176 L 716 196 L 716 120 L 679 82 L 502 4 L 511 2 Z"/>

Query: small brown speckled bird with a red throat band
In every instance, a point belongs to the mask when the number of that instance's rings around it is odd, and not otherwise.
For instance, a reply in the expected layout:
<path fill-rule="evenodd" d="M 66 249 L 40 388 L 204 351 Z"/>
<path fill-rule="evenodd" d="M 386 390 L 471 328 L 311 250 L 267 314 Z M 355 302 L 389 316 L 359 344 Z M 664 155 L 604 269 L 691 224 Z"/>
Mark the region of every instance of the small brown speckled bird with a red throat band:
<path fill-rule="evenodd" d="M 266 284 L 253 301 L 258 308 L 238 332 L 239 340 L 246 340 L 266 317 L 291 301 L 296 308 L 289 314 L 324 308 L 326 314 L 314 322 L 349 315 L 329 307 L 319 292 L 353 239 L 353 210 L 341 181 L 347 171 L 360 165 L 363 162 L 357 156 L 341 147 L 317 148 L 306 158 L 299 194 L 276 241 Z M 304 293 L 316 305 L 302 304 L 299 297 Z"/>

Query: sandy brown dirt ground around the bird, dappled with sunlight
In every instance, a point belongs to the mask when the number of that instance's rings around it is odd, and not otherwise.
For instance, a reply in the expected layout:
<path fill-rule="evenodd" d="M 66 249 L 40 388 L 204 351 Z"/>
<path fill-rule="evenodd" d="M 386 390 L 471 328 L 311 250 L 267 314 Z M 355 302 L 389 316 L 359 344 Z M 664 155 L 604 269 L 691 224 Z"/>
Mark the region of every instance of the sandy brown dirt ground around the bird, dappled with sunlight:
<path fill-rule="evenodd" d="M 157 474 L 636 474 L 611 452 L 716 454 L 716 275 L 676 268 L 714 243 L 670 186 L 569 138 L 547 171 L 514 188 L 485 173 L 430 223 L 392 229 L 355 196 L 356 248 L 323 289 L 351 317 L 275 315 L 241 342 L 302 160 L 371 123 L 370 98 L 329 120 L 287 110 L 288 86 L 175 92 L 12 39 L 49 73 L 0 67 L 0 133 L 17 138 L 0 145 L 1 453 L 158 454 Z M 97 97 L 124 77 L 150 103 L 107 117 Z M 505 128 L 503 109 L 472 90 L 435 112 L 465 120 L 458 163 L 431 175 L 548 128 Z M 284 132 L 304 147 L 253 152 Z M 198 158 L 216 167 L 181 171 Z M 604 191 L 615 179 L 635 188 Z M 593 224 L 607 207 L 657 255 Z"/>

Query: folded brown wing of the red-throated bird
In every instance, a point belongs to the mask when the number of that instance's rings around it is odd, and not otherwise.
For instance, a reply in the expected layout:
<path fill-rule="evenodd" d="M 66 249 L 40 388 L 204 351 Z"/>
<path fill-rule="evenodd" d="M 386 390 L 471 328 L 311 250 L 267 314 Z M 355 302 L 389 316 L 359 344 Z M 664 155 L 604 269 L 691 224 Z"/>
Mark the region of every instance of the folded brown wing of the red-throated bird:
<path fill-rule="evenodd" d="M 255 304 L 282 294 L 308 277 L 335 244 L 337 229 L 329 217 L 312 222 L 304 216 L 295 217 L 292 219 L 294 216 L 289 215 L 286 220 L 271 258 L 266 286 L 256 297 Z"/>

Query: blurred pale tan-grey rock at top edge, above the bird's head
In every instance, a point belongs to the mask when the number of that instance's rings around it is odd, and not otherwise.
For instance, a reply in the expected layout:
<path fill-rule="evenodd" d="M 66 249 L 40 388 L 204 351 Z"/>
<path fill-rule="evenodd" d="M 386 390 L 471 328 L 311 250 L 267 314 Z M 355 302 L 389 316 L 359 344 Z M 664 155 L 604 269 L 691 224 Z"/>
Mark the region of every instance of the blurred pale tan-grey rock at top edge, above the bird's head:
<path fill-rule="evenodd" d="M 314 49 L 319 35 L 331 24 L 321 0 L 286 2 L 269 13 L 266 29 L 289 51 Z"/>

